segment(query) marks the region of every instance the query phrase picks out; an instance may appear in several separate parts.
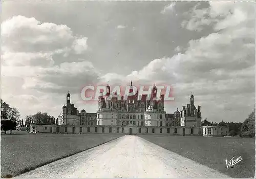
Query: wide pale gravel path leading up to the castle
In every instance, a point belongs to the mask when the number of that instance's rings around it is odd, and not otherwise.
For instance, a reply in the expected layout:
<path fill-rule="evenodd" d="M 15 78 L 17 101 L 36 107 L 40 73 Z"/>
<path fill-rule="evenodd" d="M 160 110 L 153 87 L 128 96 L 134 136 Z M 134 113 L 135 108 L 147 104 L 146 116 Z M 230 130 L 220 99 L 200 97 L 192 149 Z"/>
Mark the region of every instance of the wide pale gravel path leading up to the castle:
<path fill-rule="evenodd" d="M 124 136 L 18 178 L 226 178 L 137 136 Z"/>

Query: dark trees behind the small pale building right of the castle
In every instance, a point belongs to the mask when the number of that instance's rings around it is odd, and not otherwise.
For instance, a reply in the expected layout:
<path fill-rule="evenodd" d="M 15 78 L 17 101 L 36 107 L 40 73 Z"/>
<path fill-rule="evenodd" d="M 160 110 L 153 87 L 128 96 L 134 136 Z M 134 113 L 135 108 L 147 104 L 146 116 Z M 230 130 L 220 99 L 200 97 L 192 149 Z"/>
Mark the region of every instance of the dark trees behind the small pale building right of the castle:
<path fill-rule="evenodd" d="M 209 122 L 207 118 L 202 121 L 202 126 L 226 126 L 229 128 L 228 136 L 255 137 L 255 108 L 244 122 Z"/>

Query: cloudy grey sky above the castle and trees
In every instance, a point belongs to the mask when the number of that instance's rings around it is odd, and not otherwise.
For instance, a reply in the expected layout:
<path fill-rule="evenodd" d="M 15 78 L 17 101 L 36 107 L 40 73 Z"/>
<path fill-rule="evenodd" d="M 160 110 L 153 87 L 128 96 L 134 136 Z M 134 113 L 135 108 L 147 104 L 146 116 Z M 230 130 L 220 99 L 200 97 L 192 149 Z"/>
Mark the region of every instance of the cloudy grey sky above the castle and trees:
<path fill-rule="evenodd" d="M 1 99 L 57 117 L 81 88 L 164 83 L 174 113 L 242 122 L 255 104 L 255 2 L 2 2 Z"/>

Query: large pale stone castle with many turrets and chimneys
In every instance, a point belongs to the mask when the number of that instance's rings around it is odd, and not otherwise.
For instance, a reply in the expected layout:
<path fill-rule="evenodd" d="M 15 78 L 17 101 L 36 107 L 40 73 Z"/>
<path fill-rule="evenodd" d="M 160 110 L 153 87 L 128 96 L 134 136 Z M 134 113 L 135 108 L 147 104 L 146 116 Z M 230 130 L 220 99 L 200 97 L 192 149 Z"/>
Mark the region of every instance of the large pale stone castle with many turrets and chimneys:
<path fill-rule="evenodd" d="M 71 95 L 67 94 L 67 104 L 63 105 L 56 124 L 32 124 L 32 132 L 56 133 L 166 133 L 168 135 L 202 135 L 201 107 L 194 105 L 191 94 L 189 104 L 182 106 L 173 114 L 164 111 L 164 95 L 157 99 L 157 87 L 152 88 L 150 98 L 138 92 L 126 97 L 111 94 L 106 86 L 106 94 L 100 92 L 96 113 L 81 112 L 71 104 Z M 130 84 L 130 93 L 133 83 Z M 121 132 L 120 132 L 121 129 Z"/>

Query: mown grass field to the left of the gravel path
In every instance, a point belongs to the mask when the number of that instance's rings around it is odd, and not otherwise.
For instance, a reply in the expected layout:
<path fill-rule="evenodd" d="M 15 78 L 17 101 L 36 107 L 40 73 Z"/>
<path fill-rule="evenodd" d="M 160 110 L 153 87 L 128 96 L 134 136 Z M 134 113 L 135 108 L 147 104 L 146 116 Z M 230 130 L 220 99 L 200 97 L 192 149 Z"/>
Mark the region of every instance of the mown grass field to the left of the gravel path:
<path fill-rule="evenodd" d="M 2 177 L 16 176 L 43 164 L 116 139 L 120 135 L 30 134 L 1 135 Z"/>

